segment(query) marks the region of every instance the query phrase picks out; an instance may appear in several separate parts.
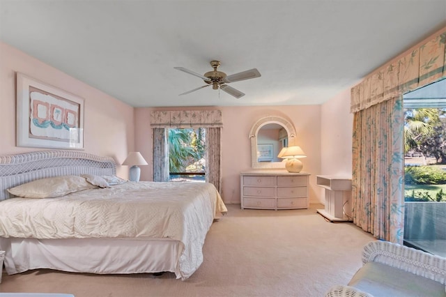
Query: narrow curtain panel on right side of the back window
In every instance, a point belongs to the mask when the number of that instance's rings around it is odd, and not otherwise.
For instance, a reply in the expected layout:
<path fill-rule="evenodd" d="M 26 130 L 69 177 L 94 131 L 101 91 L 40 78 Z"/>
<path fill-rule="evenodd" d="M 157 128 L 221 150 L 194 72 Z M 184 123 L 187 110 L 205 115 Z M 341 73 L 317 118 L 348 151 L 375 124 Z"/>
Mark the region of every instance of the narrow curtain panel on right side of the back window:
<path fill-rule="evenodd" d="M 206 128 L 206 182 L 222 190 L 222 128 Z"/>

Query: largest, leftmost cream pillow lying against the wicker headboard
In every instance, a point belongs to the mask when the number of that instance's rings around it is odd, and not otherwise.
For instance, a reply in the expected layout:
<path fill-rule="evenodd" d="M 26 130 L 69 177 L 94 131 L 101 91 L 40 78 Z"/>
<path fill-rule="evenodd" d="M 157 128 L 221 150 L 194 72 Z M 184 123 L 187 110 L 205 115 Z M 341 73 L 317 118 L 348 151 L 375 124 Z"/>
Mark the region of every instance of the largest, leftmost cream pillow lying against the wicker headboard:
<path fill-rule="evenodd" d="M 96 185 L 87 182 L 82 176 L 68 175 L 36 179 L 10 188 L 8 192 L 18 197 L 50 198 L 96 188 L 98 188 Z"/>

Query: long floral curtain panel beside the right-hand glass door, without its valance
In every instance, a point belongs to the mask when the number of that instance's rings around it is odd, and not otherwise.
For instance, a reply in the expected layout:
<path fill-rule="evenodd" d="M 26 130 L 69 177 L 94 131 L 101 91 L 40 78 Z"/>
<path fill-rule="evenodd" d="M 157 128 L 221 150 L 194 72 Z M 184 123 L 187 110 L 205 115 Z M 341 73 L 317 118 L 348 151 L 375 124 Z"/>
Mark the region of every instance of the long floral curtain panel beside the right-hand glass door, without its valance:
<path fill-rule="evenodd" d="M 354 114 L 353 222 L 376 238 L 403 244 L 402 97 Z"/>

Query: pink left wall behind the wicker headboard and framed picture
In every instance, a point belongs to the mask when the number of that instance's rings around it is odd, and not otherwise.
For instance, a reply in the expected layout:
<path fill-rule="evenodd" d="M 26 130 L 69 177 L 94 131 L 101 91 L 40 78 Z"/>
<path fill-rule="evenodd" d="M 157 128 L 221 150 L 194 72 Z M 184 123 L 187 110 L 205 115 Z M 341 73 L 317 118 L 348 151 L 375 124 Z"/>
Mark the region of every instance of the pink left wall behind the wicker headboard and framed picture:
<path fill-rule="evenodd" d="M 118 164 L 134 149 L 134 109 L 56 68 L 0 43 L 0 154 L 39 151 L 15 146 L 15 73 L 20 72 L 84 98 L 84 151 L 107 155 Z M 118 176 L 128 168 L 118 166 Z"/>

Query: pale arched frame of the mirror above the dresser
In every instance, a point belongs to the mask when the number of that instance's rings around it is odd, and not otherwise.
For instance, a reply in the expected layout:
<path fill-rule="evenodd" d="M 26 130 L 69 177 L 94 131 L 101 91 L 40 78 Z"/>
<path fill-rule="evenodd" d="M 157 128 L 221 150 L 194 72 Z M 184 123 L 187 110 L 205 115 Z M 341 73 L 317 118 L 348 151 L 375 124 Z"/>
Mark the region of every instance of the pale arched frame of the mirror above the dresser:
<path fill-rule="evenodd" d="M 249 131 L 249 139 L 251 139 L 251 167 L 261 169 L 282 169 L 285 168 L 285 162 L 259 162 L 257 160 L 257 133 L 264 126 L 270 123 L 282 125 L 288 135 L 288 145 L 295 145 L 295 130 L 293 125 L 280 116 L 265 116 L 256 121 Z"/>

